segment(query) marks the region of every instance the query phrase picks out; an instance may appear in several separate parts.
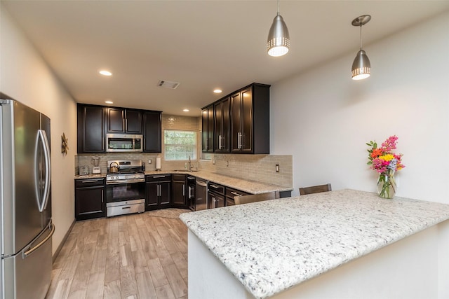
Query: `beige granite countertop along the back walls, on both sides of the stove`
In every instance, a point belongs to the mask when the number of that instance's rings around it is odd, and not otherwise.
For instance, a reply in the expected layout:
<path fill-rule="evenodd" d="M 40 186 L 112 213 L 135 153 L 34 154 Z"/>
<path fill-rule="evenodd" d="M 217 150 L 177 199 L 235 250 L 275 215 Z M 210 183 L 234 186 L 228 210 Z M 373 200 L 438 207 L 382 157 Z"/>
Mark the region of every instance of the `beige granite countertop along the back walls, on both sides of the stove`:
<path fill-rule="evenodd" d="M 232 176 L 224 176 L 222 174 L 216 174 L 215 172 L 207 172 L 204 170 L 194 171 L 194 172 L 177 172 L 173 170 L 165 170 L 165 171 L 147 171 L 145 175 L 151 174 L 189 174 L 191 176 L 195 176 L 200 179 L 205 179 L 206 181 L 213 181 L 214 183 L 219 183 L 220 185 L 224 185 L 230 188 L 236 188 L 241 191 L 258 194 L 258 193 L 266 193 L 272 191 L 291 191 L 293 188 L 291 187 L 283 187 L 278 185 L 273 185 L 269 183 L 260 183 L 257 181 L 249 181 L 245 179 L 238 179 Z M 96 179 L 96 178 L 105 178 L 106 174 L 88 174 L 86 176 L 76 175 L 75 179 Z"/>

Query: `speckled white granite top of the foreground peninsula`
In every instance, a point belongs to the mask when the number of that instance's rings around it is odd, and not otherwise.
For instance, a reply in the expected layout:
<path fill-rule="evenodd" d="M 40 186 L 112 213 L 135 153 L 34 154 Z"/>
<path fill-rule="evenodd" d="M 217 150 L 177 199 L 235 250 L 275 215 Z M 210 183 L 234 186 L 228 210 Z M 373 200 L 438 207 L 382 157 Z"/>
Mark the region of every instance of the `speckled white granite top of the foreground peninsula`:
<path fill-rule="evenodd" d="M 449 219 L 449 204 L 337 190 L 180 218 L 255 298 L 267 298 Z"/>

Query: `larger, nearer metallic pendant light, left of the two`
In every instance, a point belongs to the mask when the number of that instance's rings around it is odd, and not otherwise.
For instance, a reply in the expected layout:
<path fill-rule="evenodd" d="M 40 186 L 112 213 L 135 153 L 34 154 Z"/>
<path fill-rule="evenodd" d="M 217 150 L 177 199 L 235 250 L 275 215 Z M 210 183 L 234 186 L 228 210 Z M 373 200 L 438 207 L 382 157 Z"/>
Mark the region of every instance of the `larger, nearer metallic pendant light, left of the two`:
<path fill-rule="evenodd" d="M 278 13 L 274 17 L 272 27 L 270 27 L 267 39 L 268 55 L 278 57 L 286 55 L 290 48 L 290 36 L 288 36 L 288 29 L 286 22 L 283 21 L 279 15 L 279 0 Z"/>

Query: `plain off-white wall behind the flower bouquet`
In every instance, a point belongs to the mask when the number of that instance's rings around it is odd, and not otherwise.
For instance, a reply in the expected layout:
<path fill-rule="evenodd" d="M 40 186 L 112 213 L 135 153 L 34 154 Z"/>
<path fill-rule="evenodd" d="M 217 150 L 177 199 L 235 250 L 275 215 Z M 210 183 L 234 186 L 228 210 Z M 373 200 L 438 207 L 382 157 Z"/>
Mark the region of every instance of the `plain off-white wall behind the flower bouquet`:
<path fill-rule="evenodd" d="M 364 45 L 372 76 L 352 81 L 354 51 L 271 88 L 271 153 L 294 155 L 293 187 L 375 192 L 366 142 L 396 134 L 406 168 L 396 195 L 449 204 L 449 13 Z"/>

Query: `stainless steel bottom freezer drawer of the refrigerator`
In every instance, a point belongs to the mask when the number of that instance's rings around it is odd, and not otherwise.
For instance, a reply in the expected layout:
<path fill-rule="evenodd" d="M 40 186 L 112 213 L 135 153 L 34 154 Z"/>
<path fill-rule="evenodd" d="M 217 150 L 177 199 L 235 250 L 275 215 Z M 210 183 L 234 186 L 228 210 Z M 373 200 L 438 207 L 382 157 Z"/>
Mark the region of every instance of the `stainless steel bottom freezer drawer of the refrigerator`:
<path fill-rule="evenodd" d="M 39 238 L 14 256 L 1 259 L 3 276 L 3 298 L 44 299 L 51 281 L 52 257 L 51 235 L 54 230 L 46 230 Z M 44 242 L 32 253 L 25 255 L 29 248 Z"/>

